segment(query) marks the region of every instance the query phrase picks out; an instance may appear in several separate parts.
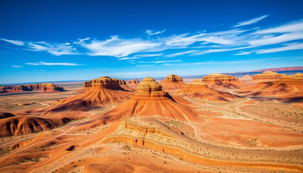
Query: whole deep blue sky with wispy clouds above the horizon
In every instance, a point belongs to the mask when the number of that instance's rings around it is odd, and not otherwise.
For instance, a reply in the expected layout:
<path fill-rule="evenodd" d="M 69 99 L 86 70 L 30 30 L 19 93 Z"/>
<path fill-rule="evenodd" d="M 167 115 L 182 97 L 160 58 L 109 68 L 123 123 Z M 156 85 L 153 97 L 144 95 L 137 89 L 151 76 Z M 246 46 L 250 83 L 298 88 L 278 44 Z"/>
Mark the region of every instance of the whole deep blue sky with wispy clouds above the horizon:
<path fill-rule="evenodd" d="M 1 1 L 0 83 L 303 65 L 303 1 Z"/>

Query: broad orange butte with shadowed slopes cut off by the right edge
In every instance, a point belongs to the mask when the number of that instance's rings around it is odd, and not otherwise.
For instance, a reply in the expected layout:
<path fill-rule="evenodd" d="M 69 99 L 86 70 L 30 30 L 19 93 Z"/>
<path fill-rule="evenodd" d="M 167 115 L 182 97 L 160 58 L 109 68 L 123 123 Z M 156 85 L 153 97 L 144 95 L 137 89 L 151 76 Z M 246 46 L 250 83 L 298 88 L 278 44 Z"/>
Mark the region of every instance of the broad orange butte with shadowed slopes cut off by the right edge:
<path fill-rule="evenodd" d="M 274 76 L 271 77 L 274 78 Z M 282 78 L 278 81 L 259 82 L 254 86 L 238 89 L 237 93 L 252 96 L 284 95 L 286 99 L 292 97 L 291 93 L 301 90 L 303 90 L 303 74 L 296 73 L 291 76 L 282 75 Z M 287 96 L 286 94 L 290 95 Z"/>

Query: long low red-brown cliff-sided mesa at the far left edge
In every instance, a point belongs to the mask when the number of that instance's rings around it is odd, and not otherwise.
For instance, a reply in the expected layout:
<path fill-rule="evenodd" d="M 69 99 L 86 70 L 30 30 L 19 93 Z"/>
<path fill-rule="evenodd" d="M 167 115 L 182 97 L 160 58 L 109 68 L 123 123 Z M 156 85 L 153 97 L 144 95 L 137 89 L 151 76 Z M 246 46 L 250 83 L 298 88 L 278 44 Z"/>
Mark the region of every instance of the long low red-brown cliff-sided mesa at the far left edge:
<path fill-rule="evenodd" d="M 65 91 L 63 87 L 54 85 L 53 83 L 40 83 L 40 84 L 30 84 L 30 85 L 17 85 L 17 86 L 2 86 L 0 87 L 0 92 L 25 92 L 25 91 L 38 91 L 42 93 L 56 93 Z"/>

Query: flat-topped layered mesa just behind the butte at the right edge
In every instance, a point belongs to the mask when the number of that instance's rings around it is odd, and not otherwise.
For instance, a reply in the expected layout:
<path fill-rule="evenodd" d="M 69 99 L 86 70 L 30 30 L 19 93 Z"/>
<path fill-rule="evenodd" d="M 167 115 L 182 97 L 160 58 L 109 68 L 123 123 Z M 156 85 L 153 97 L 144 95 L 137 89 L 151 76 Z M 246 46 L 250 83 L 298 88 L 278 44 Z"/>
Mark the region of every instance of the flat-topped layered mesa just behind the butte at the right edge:
<path fill-rule="evenodd" d="M 258 75 L 252 75 L 252 80 L 249 83 L 258 83 L 258 82 L 271 82 L 277 81 L 283 77 L 286 77 L 285 74 L 279 74 L 277 72 L 266 71 Z"/>

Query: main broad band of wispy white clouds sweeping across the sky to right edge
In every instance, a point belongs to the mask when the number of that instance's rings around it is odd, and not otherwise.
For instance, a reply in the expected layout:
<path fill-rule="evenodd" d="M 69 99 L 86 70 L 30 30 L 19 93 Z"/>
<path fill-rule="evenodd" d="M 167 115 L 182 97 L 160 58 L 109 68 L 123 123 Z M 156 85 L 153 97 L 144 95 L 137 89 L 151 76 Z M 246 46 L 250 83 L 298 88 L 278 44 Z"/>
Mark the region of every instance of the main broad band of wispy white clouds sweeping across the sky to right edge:
<path fill-rule="evenodd" d="M 268 15 L 240 22 L 239 25 L 249 25 L 258 22 Z M 237 26 L 237 25 L 236 25 Z M 258 30 L 256 30 L 258 29 Z M 159 34 L 148 30 L 148 34 Z M 120 38 L 117 35 L 109 39 L 98 40 L 91 38 L 77 39 L 73 44 L 51 43 L 51 42 L 25 42 L 12 41 L 22 46 L 23 49 L 35 52 L 48 52 L 52 55 L 89 55 L 89 56 L 111 56 L 118 60 L 140 59 L 145 57 L 155 57 L 155 59 L 165 59 L 175 56 L 197 56 L 215 52 L 232 52 L 233 55 L 248 55 L 254 53 L 254 49 L 266 52 L 266 49 L 285 47 L 285 43 L 291 43 L 303 39 L 303 20 L 293 21 L 284 25 L 272 28 L 254 27 L 247 30 L 239 28 L 220 32 L 195 32 L 178 35 L 157 36 L 150 38 Z M 1 40 L 7 41 L 2 38 Z M 8 41 L 7 41 L 8 42 Z M 22 45 L 23 44 L 23 45 Z M 271 45 L 270 48 L 266 47 Z M 287 45 L 286 45 L 287 46 Z M 290 45 L 289 45 L 290 46 Z M 296 46 L 288 47 L 295 48 Z M 271 52 L 269 50 L 267 52 Z M 294 50 L 294 49 L 293 49 Z"/>

